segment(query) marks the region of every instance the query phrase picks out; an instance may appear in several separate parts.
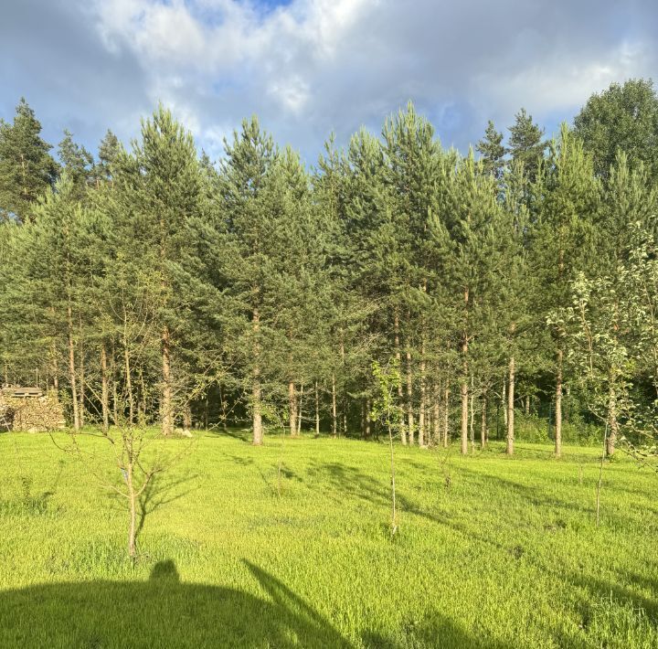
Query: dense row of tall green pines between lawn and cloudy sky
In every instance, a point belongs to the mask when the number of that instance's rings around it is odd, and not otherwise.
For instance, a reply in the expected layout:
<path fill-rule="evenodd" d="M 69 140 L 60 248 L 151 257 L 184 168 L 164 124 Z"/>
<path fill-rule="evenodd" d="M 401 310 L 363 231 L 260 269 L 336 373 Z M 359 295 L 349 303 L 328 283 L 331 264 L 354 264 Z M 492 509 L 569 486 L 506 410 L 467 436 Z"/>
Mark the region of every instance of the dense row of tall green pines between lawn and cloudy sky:
<path fill-rule="evenodd" d="M 312 169 L 256 118 L 217 164 L 162 106 L 96 157 L 65 132 L 57 162 L 40 129 L 25 101 L 0 126 L 0 364 L 76 430 L 367 438 L 375 362 L 402 373 L 403 443 L 465 453 L 500 412 L 512 453 L 515 412 L 550 412 L 559 455 L 567 393 L 609 452 L 653 425 L 650 81 L 550 142 L 523 110 L 506 141 L 489 122 L 466 155 L 409 104 Z"/>

